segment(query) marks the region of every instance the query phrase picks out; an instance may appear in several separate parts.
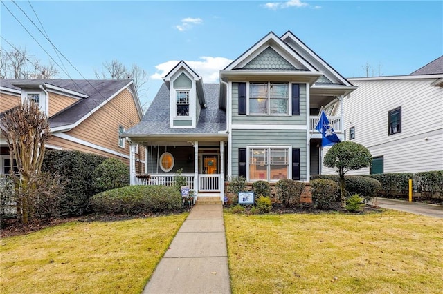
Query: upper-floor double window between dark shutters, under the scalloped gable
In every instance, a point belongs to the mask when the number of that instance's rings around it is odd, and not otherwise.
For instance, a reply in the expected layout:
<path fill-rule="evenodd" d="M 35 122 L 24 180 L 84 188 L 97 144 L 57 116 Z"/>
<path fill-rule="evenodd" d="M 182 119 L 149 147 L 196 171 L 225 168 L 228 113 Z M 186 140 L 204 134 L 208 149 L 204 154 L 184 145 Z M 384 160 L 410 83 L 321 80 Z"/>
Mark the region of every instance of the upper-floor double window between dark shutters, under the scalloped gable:
<path fill-rule="evenodd" d="M 288 106 L 288 83 L 249 83 L 249 114 L 287 115 Z"/>

